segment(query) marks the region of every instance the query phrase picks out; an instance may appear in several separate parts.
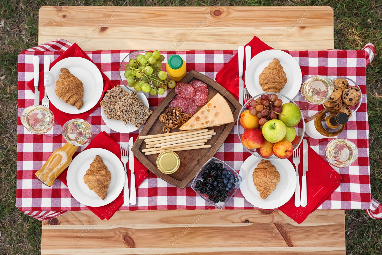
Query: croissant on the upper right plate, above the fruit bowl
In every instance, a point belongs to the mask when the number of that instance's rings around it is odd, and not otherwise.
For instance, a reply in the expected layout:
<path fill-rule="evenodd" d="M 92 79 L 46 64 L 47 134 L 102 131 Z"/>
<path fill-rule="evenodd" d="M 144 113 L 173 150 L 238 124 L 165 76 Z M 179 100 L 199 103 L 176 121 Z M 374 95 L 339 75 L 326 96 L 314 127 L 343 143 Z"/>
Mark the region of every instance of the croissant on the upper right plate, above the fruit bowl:
<path fill-rule="evenodd" d="M 277 58 L 274 58 L 259 76 L 259 83 L 265 92 L 280 93 L 286 84 L 284 68 Z"/>

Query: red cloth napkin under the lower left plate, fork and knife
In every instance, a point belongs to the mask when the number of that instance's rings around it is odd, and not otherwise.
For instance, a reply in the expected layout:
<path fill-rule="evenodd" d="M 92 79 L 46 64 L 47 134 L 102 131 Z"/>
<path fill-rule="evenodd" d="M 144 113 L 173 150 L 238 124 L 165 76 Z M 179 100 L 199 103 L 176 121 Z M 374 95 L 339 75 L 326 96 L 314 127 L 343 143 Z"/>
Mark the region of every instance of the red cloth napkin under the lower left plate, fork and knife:
<path fill-rule="evenodd" d="M 97 136 L 94 137 L 94 139 L 89 143 L 89 145 L 86 146 L 86 149 L 91 149 L 91 148 L 102 148 L 102 149 L 107 149 L 108 151 L 111 151 L 114 153 L 118 158 L 121 158 L 121 150 L 120 146 L 116 141 L 113 140 L 107 133 L 102 131 L 99 133 Z M 84 150 L 86 150 L 84 149 Z M 75 156 L 78 153 L 75 154 Z M 127 171 L 128 171 L 128 182 L 129 182 L 129 187 L 130 185 L 130 175 L 131 171 L 129 170 L 129 165 L 127 164 Z M 138 188 L 139 185 L 143 182 L 144 179 L 149 175 L 147 168 L 141 164 L 141 162 L 138 161 L 138 159 L 134 158 L 134 172 L 135 172 L 135 184 L 136 187 Z M 66 186 L 68 186 L 66 182 L 66 174 L 67 174 L 68 169 L 65 169 L 60 176 L 58 176 L 58 179 L 63 182 Z M 130 192 L 130 190 L 129 190 Z M 95 215 L 97 215 L 100 219 L 110 219 L 110 217 L 113 216 L 113 214 L 120 208 L 120 206 L 123 204 L 123 190 L 122 192 L 118 195 L 118 197 L 111 202 L 108 205 L 104 206 L 99 206 L 99 207 L 91 207 L 87 206 L 89 210 L 91 210 Z"/>

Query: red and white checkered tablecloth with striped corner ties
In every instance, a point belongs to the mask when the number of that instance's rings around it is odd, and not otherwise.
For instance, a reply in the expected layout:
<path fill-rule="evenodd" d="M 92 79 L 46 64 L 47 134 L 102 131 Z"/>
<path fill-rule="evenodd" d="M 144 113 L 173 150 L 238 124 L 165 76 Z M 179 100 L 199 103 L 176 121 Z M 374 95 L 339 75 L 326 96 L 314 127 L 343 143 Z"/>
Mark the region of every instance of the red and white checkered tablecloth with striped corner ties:
<path fill-rule="evenodd" d="M 52 187 L 43 185 L 34 177 L 50 154 L 60 148 L 65 140 L 62 136 L 49 137 L 33 135 L 21 124 L 20 115 L 25 107 L 34 104 L 34 93 L 26 83 L 33 78 L 33 57 L 40 56 L 40 70 L 43 69 L 43 56 L 49 56 L 51 62 L 71 43 L 57 40 L 37 47 L 24 50 L 18 55 L 18 146 L 17 146 L 17 195 L 16 206 L 24 213 L 46 220 L 57 217 L 68 210 L 87 210 L 87 207 L 75 200 L 68 188 L 56 180 Z M 95 50 L 86 52 L 87 55 L 102 69 L 106 76 L 114 83 L 121 84 L 119 65 L 128 50 Z M 324 50 L 324 51 L 289 51 L 306 73 L 303 81 L 312 75 L 347 76 L 356 81 L 362 91 L 362 104 L 350 118 L 346 130 L 339 135 L 353 141 L 359 148 L 358 159 L 349 167 L 342 168 L 342 183 L 319 209 L 369 209 L 368 213 L 374 218 L 380 218 L 381 206 L 372 200 L 370 193 L 369 167 L 369 125 L 367 121 L 366 101 L 366 65 L 374 56 L 374 45 L 367 44 L 364 50 Z M 186 52 L 162 52 L 167 57 L 178 54 L 187 63 L 188 71 L 194 69 L 214 79 L 217 71 L 223 67 L 235 54 L 233 50 L 206 50 Z M 152 110 L 158 106 L 167 93 L 162 96 L 151 96 L 146 93 Z M 295 101 L 298 101 L 298 96 Z M 320 106 L 322 107 L 322 106 Z M 313 115 L 318 106 L 309 110 Z M 307 116 L 305 116 L 307 117 Z M 105 125 L 100 114 L 100 108 L 95 110 L 87 122 L 91 123 L 95 133 L 105 131 L 117 142 L 126 142 L 130 137 L 136 139 L 139 131 L 120 134 L 110 130 Z M 98 129 L 98 130 L 97 130 Z M 312 148 L 318 150 L 319 141 L 310 139 Z M 83 150 L 84 148 L 79 148 Z M 223 160 L 235 170 L 240 170 L 243 161 L 250 154 L 241 145 L 236 127 L 231 130 L 225 143 L 215 157 Z M 180 189 L 168 184 L 157 176 L 149 177 L 137 189 L 138 202 L 135 206 L 121 206 L 120 210 L 156 210 L 156 209 L 204 209 L 208 205 L 190 187 L 190 184 Z M 224 209 L 257 209 L 244 199 L 240 189 L 228 202 Z"/>

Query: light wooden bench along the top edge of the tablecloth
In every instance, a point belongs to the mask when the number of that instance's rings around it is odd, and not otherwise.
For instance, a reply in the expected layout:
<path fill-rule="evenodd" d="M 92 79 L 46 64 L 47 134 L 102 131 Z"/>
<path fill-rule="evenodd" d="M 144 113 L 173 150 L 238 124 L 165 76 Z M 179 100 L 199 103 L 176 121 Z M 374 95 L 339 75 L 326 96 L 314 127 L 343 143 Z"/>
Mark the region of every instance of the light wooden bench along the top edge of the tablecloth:
<path fill-rule="evenodd" d="M 132 26 L 131 20 L 138 22 Z M 39 44 L 66 39 L 83 50 L 237 50 L 254 35 L 280 50 L 334 49 L 333 9 L 42 6 L 39 11 Z"/>

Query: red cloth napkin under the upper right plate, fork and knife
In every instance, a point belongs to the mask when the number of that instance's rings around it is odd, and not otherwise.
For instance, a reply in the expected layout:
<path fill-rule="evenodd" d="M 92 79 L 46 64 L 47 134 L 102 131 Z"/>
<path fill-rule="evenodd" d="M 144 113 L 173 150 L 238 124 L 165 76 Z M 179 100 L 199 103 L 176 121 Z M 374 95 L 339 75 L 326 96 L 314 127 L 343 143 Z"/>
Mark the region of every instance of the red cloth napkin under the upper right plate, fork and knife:
<path fill-rule="evenodd" d="M 259 54 L 260 52 L 264 50 L 273 50 L 272 47 L 268 46 L 265 44 L 263 41 L 261 41 L 257 36 L 253 37 L 251 41 L 248 42 L 245 46 L 251 46 L 251 59 Z M 244 46 L 244 49 L 245 49 Z M 223 66 L 222 69 L 220 69 L 215 77 L 215 80 L 217 83 L 222 85 L 224 88 L 226 88 L 230 93 L 238 99 L 239 95 L 239 57 L 238 53 L 236 53 L 233 58 L 228 61 L 227 64 Z M 243 80 L 244 80 L 244 73 L 246 70 L 246 65 L 245 65 L 245 54 L 244 54 L 244 64 L 243 64 Z M 305 75 L 303 71 L 302 76 Z"/>

